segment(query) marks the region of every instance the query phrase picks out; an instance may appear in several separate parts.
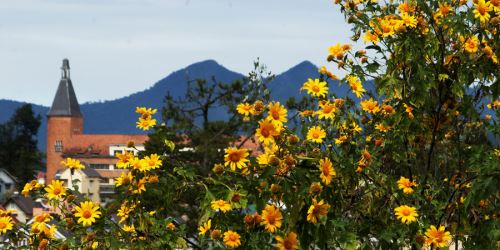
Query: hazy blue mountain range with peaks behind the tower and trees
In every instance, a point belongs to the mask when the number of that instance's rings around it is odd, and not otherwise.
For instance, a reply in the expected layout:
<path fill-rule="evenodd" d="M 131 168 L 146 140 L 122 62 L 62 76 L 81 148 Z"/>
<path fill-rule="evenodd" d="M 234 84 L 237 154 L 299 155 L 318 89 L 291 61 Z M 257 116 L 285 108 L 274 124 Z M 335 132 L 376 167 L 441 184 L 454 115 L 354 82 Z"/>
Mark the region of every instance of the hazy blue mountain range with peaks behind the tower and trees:
<path fill-rule="evenodd" d="M 283 101 L 288 97 L 299 97 L 299 88 L 309 77 L 318 75 L 318 68 L 311 62 L 304 61 L 292 67 L 286 72 L 277 75 L 270 84 L 272 97 Z M 152 87 L 122 97 L 116 100 L 84 103 L 81 104 L 81 111 L 84 115 L 84 132 L 92 134 L 137 134 L 141 131 L 135 128 L 137 114 L 135 107 L 147 106 L 160 109 L 163 106 L 163 99 L 167 92 L 174 97 L 183 96 L 186 93 L 187 81 L 198 78 L 211 79 L 215 77 L 217 81 L 231 82 L 241 79 L 244 75 L 228 70 L 214 60 L 206 60 L 187 66 L 184 69 L 175 71 L 165 78 L 156 82 Z M 57 84 L 58 79 L 54 79 Z M 78 82 L 74 82 L 78 86 Z M 55 95 L 55 93 L 53 93 Z M 78 93 L 76 93 L 78 96 Z M 53 97 L 51 97 L 53 98 Z M 51 100 L 52 101 L 52 100 Z M 25 104 L 24 102 L 12 100 L 0 100 L 0 123 L 7 121 L 15 109 Z M 45 151 L 47 138 L 46 114 L 48 107 L 33 105 L 36 114 L 43 118 L 42 125 L 38 131 L 38 146 Z M 218 115 L 225 111 L 217 111 Z"/>

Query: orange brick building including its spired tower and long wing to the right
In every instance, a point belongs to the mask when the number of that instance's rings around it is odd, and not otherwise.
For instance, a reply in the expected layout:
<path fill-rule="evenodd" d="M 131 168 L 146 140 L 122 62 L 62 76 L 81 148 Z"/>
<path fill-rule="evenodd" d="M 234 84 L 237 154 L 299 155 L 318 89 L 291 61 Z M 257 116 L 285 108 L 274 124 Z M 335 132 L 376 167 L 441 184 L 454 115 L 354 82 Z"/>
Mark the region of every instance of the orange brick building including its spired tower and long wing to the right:
<path fill-rule="evenodd" d="M 83 119 L 70 78 L 69 61 L 64 59 L 59 87 L 47 114 L 47 183 L 53 179 L 68 180 L 63 176 L 61 161 L 68 157 L 78 159 L 86 168 L 99 174 L 99 191 L 97 195 L 95 190 L 92 191 L 92 200 L 106 203 L 114 195 L 114 178 L 125 171 L 116 168 L 116 153 L 125 150 L 137 153 L 144 149 L 148 137 L 139 134 L 85 134 Z M 133 141 L 136 148 L 127 148 L 129 141 Z"/>

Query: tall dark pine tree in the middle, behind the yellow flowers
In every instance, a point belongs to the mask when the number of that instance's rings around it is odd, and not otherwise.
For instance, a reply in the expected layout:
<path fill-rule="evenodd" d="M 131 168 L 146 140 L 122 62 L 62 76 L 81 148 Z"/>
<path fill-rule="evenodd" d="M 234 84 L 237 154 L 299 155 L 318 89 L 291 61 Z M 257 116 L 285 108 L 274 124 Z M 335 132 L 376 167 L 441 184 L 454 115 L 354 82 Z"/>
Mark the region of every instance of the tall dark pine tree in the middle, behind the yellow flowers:
<path fill-rule="evenodd" d="M 187 215 L 189 234 L 196 234 L 195 218 L 199 216 L 198 205 L 204 196 L 204 187 L 198 181 L 210 175 L 229 145 L 252 140 L 242 137 L 253 125 L 237 115 L 236 105 L 269 97 L 266 84 L 272 75 L 259 62 L 254 67 L 247 78 L 229 84 L 218 82 L 215 77 L 211 81 L 188 80 L 184 97 L 177 99 L 168 93 L 162 109 L 164 122 L 145 144 L 144 155 L 168 155 L 168 161 L 175 166 L 175 175 L 160 179 L 159 186 L 163 188 L 147 194 L 150 199 L 146 198 L 144 203 L 157 207 L 163 201 L 155 197 L 169 197 L 164 199 L 167 202 L 164 207 L 168 209 L 162 213 L 177 218 Z M 174 148 L 170 148 L 171 143 L 175 143 Z M 172 200 L 176 202 L 171 203 Z"/>

